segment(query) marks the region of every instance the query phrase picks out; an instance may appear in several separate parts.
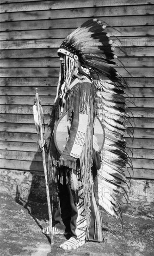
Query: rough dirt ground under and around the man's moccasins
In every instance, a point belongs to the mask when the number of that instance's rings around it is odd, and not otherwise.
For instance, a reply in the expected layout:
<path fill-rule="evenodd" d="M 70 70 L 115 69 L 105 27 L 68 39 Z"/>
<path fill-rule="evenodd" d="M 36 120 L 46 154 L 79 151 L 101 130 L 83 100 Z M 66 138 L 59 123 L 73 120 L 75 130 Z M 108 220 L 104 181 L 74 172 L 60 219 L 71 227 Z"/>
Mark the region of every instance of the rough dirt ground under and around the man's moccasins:
<path fill-rule="evenodd" d="M 65 251 L 59 245 L 66 239 L 42 234 L 48 225 L 47 203 L 28 203 L 2 196 L 0 199 L 0 256 L 153 256 L 154 218 L 123 214 L 121 223 L 102 212 L 104 243 L 86 243 L 81 248 Z"/>

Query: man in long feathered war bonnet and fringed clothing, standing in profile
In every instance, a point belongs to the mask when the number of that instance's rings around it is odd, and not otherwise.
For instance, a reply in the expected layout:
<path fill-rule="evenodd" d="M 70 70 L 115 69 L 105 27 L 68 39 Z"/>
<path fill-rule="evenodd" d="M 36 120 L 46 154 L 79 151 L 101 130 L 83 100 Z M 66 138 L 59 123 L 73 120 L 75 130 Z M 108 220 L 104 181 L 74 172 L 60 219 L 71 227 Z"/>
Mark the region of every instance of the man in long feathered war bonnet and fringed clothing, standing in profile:
<path fill-rule="evenodd" d="M 55 220 L 70 235 L 62 249 L 76 249 L 86 240 L 102 242 L 98 205 L 118 216 L 116 192 L 125 182 L 125 84 L 111 61 L 117 56 L 105 27 L 88 20 L 58 49 L 59 82 L 44 140 L 49 180 L 59 191 Z M 103 194 L 103 188 L 114 193 Z M 49 228 L 43 232 L 48 234 Z"/>

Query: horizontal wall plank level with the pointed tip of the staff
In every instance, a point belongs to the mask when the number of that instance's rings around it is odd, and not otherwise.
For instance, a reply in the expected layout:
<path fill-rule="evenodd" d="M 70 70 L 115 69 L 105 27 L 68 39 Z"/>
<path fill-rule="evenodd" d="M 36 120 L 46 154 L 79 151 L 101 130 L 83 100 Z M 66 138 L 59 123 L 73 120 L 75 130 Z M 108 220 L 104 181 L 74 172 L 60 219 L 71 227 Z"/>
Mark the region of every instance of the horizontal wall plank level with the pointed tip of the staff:
<path fill-rule="evenodd" d="M 4 86 L 0 87 L 1 95 L 31 95 L 34 96 L 36 86 Z M 52 86 L 40 86 L 38 88 L 38 93 L 40 96 L 55 96 L 56 95 L 56 87 Z M 144 98 L 154 98 L 154 88 L 129 88 L 125 90 L 126 97 L 144 97 Z"/>

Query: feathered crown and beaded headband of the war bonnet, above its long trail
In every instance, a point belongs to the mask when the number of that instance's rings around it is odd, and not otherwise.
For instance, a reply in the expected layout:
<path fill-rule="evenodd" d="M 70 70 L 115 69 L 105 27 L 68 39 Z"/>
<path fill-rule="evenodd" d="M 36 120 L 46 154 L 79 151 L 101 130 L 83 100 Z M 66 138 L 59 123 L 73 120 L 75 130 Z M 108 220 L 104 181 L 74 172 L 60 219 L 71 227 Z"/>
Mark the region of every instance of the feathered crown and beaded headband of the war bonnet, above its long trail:
<path fill-rule="evenodd" d="M 117 59 L 117 56 L 113 54 L 115 48 L 109 39 L 111 35 L 104 32 L 105 28 L 103 21 L 86 21 L 66 37 L 58 49 L 58 55 L 79 60 L 82 67 L 89 68 L 90 76 L 94 79 L 98 74 L 113 80 L 118 73 L 114 69 L 117 64 L 111 60 Z"/>

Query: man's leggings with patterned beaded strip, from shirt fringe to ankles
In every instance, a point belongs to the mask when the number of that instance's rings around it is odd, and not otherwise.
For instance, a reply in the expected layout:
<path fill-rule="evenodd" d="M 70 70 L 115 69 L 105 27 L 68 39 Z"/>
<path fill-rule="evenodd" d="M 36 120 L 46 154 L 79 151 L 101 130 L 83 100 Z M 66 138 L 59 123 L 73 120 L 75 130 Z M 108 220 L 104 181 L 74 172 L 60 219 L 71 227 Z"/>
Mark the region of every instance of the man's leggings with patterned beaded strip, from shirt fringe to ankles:
<path fill-rule="evenodd" d="M 82 182 L 79 181 L 79 202 L 76 205 L 68 184 L 59 182 L 58 189 L 60 206 L 55 212 L 55 221 L 65 226 L 65 232 L 72 233 L 74 238 L 102 242 L 102 222 L 94 193 L 91 196 L 91 222 L 87 230 Z"/>

